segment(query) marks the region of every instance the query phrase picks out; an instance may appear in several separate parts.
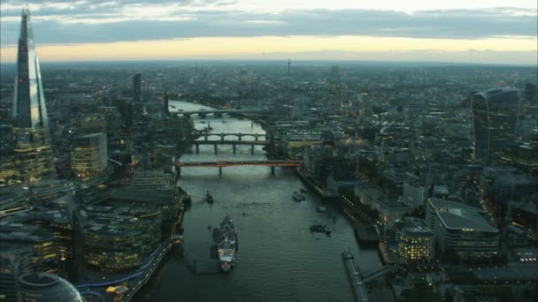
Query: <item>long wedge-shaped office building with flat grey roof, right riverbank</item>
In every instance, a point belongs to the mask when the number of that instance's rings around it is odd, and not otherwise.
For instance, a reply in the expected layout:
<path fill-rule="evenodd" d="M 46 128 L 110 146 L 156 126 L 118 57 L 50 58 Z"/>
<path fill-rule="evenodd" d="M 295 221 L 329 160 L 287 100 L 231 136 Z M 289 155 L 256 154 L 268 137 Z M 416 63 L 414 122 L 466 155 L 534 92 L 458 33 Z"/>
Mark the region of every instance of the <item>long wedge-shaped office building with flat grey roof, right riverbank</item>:
<path fill-rule="evenodd" d="M 455 251 L 465 259 L 490 257 L 497 253 L 499 231 L 488 223 L 481 208 L 452 200 L 427 200 L 426 221 L 434 230 L 442 253 Z"/>

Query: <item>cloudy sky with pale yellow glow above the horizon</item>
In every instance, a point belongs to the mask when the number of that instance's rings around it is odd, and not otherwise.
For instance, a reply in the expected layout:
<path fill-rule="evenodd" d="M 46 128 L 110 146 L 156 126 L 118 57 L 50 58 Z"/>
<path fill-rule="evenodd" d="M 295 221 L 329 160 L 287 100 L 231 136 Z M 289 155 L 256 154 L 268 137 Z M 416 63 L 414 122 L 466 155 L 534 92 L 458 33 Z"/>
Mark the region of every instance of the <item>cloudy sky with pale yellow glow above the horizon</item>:
<path fill-rule="evenodd" d="M 21 4 L 0 4 L 3 62 Z M 536 64 L 535 0 L 37 0 L 42 61 L 271 58 Z"/>

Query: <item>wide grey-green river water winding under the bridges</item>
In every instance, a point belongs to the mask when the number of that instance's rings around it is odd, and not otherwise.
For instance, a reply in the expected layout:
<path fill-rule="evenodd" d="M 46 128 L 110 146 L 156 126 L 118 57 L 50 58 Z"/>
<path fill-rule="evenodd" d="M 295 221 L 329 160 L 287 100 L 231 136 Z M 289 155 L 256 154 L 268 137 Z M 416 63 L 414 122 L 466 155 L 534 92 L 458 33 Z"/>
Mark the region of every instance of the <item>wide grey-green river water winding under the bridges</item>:
<path fill-rule="evenodd" d="M 183 110 L 211 109 L 188 102 L 170 104 Z M 264 133 L 247 119 L 192 118 L 196 129 L 209 123 L 214 133 Z M 239 146 L 234 155 L 232 146 L 219 146 L 215 155 L 212 146 L 201 146 L 198 155 L 183 155 L 180 161 L 258 159 L 265 159 L 261 147 L 251 154 L 250 146 Z M 292 200 L 291 194 L 305 186 L 290 168 L 276 168 L 272 175 L 269 167 L 229 167 L 222 177 L 218 168 L 183 168 L 179 185 L 193 200 L 183 220 L 187 259 L 166 260 L 137 301 L 352 301 L 342 251 L 351 249 L 363 274 L 380 268 L 377 250 L 357 245 L 352 224 L 337 204 L 324 203 L 313 193 L 305 193 L 302 202 Z M 212 205 L 202 200 L 206 191 L 215 199 Z M 316 211 L 320 205 L 326 213 Z M 235 268 L 222 275 L 211 262 L 208 225 L 218 226 L 225 215 L 234 220 L 239 251 Z M 313 223 L 327 224 L 331 237 L 311 233 Z M 195 259 L 207 274 L 195 275 L 188 268 L 187 262 Z M 372 298 L 392 300 L 386 287 L 374 290 Z"/>

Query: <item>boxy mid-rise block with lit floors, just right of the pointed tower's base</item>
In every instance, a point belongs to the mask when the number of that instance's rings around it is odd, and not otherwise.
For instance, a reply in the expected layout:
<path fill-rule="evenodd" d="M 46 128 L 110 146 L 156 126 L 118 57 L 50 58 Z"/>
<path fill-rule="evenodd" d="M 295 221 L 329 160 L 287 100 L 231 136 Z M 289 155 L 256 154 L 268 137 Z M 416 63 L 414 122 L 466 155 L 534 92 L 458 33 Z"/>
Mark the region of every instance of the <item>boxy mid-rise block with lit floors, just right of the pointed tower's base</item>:
<path fill-rule="evenodd" d="M 73 140 L 71 169 L 75 177 L 98 176 L 106 171 L 107 166 L 106 133 L 84 134 Z"/>

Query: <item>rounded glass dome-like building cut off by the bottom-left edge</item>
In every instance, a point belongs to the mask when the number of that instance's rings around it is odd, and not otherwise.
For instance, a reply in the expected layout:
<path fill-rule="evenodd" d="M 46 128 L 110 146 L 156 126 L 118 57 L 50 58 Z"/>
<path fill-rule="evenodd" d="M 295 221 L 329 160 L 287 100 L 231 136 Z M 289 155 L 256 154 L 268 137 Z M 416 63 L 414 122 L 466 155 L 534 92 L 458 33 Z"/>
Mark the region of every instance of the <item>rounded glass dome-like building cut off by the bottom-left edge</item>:
<path fill-rule="evenodd" d="M 19 277 L 22 302 L 82 302 L 81 293 L 65 279 L 42 272 Z"/>

